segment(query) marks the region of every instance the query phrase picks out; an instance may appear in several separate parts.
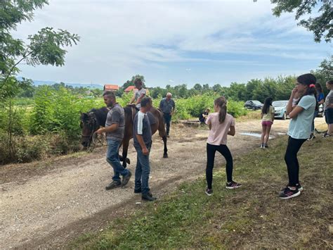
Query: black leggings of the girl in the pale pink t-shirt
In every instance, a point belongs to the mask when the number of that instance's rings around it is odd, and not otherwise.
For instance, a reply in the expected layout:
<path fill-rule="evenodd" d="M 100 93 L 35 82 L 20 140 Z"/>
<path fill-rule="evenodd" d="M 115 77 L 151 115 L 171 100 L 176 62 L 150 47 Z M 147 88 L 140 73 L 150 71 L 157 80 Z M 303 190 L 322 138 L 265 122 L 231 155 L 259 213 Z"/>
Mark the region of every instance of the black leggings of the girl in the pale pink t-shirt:
<path fill-rule="evenodd" d="M 207 186 L 211 189 L 211 182 L 213 181 L 213 168 L 214 168 L 214 158 L 215 152 L 220 152 L 224 158 L 226 158 L 226 173 L 227 181 L 233 181 L 233 156 L 231 156 L 230 150 L 227 145 L 211 145 L 207 143 L 207 168 L 206 168 L 206 180 Z"/>

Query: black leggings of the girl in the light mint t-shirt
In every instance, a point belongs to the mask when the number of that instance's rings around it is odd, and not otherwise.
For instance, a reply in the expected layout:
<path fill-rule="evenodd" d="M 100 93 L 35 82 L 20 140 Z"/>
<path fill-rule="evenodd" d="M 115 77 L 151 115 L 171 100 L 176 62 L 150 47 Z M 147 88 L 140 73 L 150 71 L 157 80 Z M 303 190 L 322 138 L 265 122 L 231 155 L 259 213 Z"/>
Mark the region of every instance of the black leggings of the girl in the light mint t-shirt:
<path fill-rule="evenodd" d="M 299 184 L 299 161 L 297 160 L 297 153 L 305 141 L 306 139 L 294 139 L 292 137 L 288 139 L 285 162 L 287 164 L 289 186 L 291 187 L 296 187 L 296 184 Z"/>

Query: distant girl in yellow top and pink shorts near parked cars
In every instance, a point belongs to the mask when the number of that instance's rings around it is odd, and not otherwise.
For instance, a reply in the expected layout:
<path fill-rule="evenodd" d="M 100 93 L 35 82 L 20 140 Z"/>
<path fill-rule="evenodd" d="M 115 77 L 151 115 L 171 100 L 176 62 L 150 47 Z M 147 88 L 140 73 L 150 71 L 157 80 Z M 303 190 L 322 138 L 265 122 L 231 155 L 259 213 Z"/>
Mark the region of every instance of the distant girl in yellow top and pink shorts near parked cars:
<path fill-rule="evenodd" d="M 263 102 L 263 108 L 261 110 L 261 149 L 268 149 L 268 139 L 270 128 L 273 125 L 274 121 L 274 108 L 272 106 L 272 97 L 267 97 Z"/>

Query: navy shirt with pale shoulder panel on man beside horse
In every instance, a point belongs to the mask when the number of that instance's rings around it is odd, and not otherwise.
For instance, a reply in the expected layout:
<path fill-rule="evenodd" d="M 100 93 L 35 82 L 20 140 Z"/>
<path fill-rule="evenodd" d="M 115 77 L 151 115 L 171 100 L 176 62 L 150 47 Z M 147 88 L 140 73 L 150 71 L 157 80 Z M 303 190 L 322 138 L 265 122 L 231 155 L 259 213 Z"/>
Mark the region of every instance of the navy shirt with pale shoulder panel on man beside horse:
<path fill-rule="evenodd" d="M 136 138 L 136 135 L 143 136 L 143 142 L 145 142 L 146 146 L 152 142 L 152 130 L 150 128 L 148 115 L 142 113 L 141 111 L 138 111 L 138 113 L 136 113 L 136 117 L 134 118 L 133 123 L 134 146 L 141 148 L 138 139 Z"/>

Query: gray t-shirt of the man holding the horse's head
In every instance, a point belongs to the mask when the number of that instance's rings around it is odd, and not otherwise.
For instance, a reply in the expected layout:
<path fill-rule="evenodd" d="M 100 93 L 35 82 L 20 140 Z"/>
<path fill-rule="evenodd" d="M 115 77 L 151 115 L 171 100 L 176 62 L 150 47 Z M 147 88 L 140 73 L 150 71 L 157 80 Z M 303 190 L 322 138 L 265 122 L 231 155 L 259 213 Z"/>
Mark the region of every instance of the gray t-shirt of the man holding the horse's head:
<path fill-rule="evenodd" d="M 125 114 L 124 108 L 119 104 L 115 104 L 107 113 L 105 121 L 105 127 L 110 127 L 112 124 L 118 123 L 118 128 L 115 131 L 107 132 L 106 139 L 114 139 L 116 141 L 122 141 L 125 131 Z"/>

